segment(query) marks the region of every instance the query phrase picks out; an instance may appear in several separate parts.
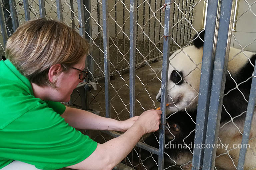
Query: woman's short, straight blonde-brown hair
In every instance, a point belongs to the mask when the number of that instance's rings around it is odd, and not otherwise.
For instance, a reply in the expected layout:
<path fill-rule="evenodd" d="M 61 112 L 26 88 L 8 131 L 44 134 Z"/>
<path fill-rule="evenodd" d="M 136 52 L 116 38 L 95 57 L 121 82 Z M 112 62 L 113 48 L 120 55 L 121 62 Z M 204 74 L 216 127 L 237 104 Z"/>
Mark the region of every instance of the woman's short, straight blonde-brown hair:
<path fill-rule="evenodd" d="M 32 83 L 54 86 L 48 71 L 61 64 L 63 71 L 88 54 L 89 44 L 64 23 L 46 19 L 21 25 L 6 44 L 6 56 Z"/>

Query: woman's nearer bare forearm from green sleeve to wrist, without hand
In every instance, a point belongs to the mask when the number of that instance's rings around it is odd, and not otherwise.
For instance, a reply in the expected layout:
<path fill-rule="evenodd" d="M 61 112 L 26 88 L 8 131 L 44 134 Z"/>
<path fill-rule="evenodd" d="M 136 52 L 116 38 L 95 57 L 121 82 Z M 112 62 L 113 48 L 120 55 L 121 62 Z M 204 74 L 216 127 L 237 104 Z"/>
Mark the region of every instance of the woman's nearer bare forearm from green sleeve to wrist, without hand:
<path fill-rule="evenodd" d="M 68 166 L 79 170 L 111 170 L 121 162 L 145 133 L 142 125 L 137 124 L 129 128 L 121 136 L 98 144 L 96 150 L 84 161 Z M 92 163 L 97 162 L 97 163 Z"/>

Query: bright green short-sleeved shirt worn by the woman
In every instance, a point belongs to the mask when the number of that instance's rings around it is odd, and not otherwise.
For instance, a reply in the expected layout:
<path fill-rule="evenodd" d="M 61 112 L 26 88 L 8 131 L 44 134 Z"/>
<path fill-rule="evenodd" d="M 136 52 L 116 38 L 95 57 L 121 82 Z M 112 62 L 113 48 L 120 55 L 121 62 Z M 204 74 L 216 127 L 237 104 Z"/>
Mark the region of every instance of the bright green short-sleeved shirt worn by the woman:
<path fill-rule="evenodd" d="M 0 169 L 13 160 L 53 170 L 77 164 L 97 142 L 60 116 L 65 106 L 35 98 L 30 81 L 0 61 Z"/>

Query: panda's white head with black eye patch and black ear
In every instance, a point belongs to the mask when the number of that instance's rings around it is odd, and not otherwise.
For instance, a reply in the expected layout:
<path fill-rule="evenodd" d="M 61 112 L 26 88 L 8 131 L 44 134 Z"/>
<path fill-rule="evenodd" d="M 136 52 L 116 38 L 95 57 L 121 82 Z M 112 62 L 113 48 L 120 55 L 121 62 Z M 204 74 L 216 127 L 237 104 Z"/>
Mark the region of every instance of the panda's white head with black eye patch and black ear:
<path fill-rule="evenodd" d="M 169 58 L 167 107 L 170 112 L 197 108 L 204 31 L 193 37 L 194 45 L 175 51 Z M 161 89 L 156 97 L 161 99 Z"/>

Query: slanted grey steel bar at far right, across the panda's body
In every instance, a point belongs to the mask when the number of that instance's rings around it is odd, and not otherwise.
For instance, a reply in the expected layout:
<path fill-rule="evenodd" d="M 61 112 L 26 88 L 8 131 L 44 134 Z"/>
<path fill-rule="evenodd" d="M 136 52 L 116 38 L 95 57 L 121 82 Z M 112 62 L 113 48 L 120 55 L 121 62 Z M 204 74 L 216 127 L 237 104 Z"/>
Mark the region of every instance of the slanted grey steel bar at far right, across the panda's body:
<path fill-rule="evenodd" d="M 245 123 L 244 123 L 242 148 L 240 149 L 237 170 L 243 170 L 244 169 L 244 161 L 245 161 L 245 156 L 246 156 L 246 151 L 247 151 L 247 147 L 244 147 L 244 146 L 249 141 L 252 118 L 253 118 L 253 113 L 254 113 L 254 108 L 255 108 L 255 103 L 256 103 L 256 78 L 255 78 L 255 73 L 256 73 L 256 65 L 254 66 L 254 71 L 253 71 L 252 85 L 251 85 L 249 102 L 248 102 L 248 106 L 247 106 L 247 112 L 246 112 Z M 247 158 L 247 159 L 250 159 L 250 158 Z"/>

